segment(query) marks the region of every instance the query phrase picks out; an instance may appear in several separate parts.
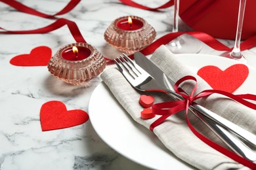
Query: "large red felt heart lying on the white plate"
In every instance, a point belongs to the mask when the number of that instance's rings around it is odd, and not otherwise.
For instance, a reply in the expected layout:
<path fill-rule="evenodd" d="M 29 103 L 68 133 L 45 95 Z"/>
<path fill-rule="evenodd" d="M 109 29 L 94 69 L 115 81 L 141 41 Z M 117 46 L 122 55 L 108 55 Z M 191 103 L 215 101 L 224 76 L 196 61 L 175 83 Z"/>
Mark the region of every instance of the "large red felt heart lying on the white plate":
<path fill-rule="evenodd" d="M 246 65 L 235 64 L 224 71 L 219 67 L 207 65 L 198 71 L 201 76 L 215 90 L 234 92 L 246 80 L 249 69 Z"/>

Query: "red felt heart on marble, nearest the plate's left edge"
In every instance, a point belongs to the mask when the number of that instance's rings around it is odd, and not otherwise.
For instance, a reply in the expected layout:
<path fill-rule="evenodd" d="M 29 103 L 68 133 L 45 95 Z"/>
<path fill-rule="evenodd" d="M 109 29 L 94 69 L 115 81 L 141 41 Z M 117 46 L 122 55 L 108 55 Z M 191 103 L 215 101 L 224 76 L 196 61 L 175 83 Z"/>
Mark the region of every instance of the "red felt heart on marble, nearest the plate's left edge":
<path fill-rule="evenodd" d="M 42 105 L 40 121 L 43 131 L 63 129 L 83 124 L 89 119 L 83 110 L 67 110 L 60 101 L 49 101 Z"/>

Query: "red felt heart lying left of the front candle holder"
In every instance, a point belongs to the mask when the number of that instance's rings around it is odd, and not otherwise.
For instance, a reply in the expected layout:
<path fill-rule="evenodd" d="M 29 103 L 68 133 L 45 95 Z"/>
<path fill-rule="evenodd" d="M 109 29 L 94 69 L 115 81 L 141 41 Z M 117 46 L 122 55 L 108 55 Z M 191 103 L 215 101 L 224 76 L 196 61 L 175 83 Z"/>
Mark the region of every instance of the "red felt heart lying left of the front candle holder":
<path fill-rule="evenodd" d="M 45 66 L 52 56 L 52 50 L 48 46 L 37 46 L 30 54 L 21 54 L 10 60 L 16 66 Z"/>

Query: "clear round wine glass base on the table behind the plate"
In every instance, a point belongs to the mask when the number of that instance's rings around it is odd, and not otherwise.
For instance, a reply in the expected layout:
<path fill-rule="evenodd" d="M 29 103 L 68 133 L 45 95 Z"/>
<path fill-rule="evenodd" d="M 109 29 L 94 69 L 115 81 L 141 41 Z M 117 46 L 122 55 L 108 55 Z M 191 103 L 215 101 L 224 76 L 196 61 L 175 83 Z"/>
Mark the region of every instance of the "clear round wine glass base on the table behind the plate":
<path fill-rule="evenodd" d="M 202 42 L 184 34 L 165 44 L 165 46 L 174 54 L 196 54 L 202 49 Z"/>

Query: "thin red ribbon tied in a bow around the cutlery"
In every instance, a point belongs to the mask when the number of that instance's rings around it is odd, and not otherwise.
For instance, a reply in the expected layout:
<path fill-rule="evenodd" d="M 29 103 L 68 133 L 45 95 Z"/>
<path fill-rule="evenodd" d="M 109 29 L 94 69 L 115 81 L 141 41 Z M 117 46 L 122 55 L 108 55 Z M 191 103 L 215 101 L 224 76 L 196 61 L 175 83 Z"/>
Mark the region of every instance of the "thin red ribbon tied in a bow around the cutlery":
<path fill-rule="evenodd" d="M 233 99 L 234 101 L 237 101 L 238 103 L 241 103 L 251 109 L 256 110 L 256 105 L 246 101 L 245 99 L 251 99 L 256 101 L 256 95 L 252 94 L 243 94 L 243 95 L 234 95 L 232 93 L 224 92 L 221 90 L 203 90 L 203 92 L 198 93 L 197 95 L 194 95 L 196 92 L 197 88 L 197 82 L 191 92 L 190 95 L 184 93 L 184 91 L 179 88 L 179 85 L 186 81 L 186 80 L 194 80 L 196 82 L 196 78 L 194 76 L 184 76 L 180 80 L 178 80 L 175 84 L 175 92 L 179 93 L 182 95 L 184 98 L 181 101 L 169 101 L 169 102 L 164 102 L 164 103 L 158 103 L 155 105 L 152 105 L 152 111 L 154 114 L 161 115 L 160 118 L 155 120 L 151 125 L 150 125 L 150 130 L 153 131 L 154 127 L 160 125 L 164 120 L 166 120 L 169 116 L 176 114 L 177 112 L 180 112 L 181 110 L 186 110 L 186 123 L 188 124 L 188 127 L 190 130 L 196 135 L 199 139 L 201 139 L 204 143 L 208 144 L 215 150 L 218 150 L 222 154 L 228 156 L 229 158 L 238 161 L 239 163 L 251 168 L 251 169 L 256 169 L 256 164 L 253 163 L 252 161 L 246 160 L 245 158 L 242 158 L 241 156 L 238 156 L 234 152 L 231 152 L 230 150 L 224 148 L 223 146 L 214 143 L 213 141 L 207 139 L 207 137 L 203 136 L 200 132 L 198 132 L 191 124 L 189 118 L 188 118 L 188 107 L 192 105 L 192 103 L 201 97 L 205 97 L 208 95 L 211 95 L 213 93 L 219 93 L 221 95 L 225 95 L 226 97 L 229 97 L 230 99 Z"/>

